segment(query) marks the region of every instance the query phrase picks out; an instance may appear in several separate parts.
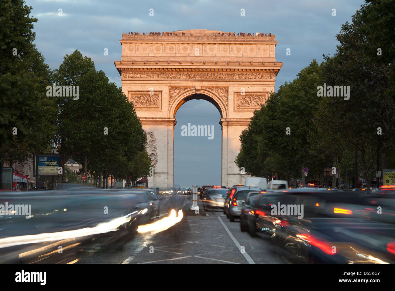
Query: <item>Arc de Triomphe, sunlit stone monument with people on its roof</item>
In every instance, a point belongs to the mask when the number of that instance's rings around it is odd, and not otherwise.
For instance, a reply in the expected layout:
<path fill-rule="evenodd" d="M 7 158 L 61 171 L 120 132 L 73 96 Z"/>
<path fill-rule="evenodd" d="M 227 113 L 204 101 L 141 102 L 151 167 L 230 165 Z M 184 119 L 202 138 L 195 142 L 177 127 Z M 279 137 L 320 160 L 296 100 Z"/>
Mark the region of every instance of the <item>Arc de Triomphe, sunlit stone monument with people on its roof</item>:
<path fill-rule="evenodd" d="M 275 36 L 198 29 L 122 34 L 120 43 L 121 60 L 114 64 L 147 132 L 154 164 L 149 186 L 173 186 L 175 114 L 191 99 L 205 99 L 220 112 L 222 185 L 244 183 L 248 176 L 234 160 L 241 131 L 274 91 L 282 67 Z"/>

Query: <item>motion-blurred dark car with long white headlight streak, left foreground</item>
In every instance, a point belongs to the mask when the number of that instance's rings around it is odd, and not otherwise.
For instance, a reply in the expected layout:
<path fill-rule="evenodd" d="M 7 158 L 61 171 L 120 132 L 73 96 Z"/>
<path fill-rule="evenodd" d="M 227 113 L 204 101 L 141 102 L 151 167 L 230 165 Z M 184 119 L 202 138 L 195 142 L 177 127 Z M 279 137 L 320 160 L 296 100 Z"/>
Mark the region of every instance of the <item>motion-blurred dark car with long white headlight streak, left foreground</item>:
<path fill-rule="evenodd" d="M 141 196 L 112 190 L 24 193 L 0 194 L 1 204 L 34 205 L 29 219 L 27 213 L 2 213 L 1 263 L 74 263 L 92 245 L 122 247 L 147 218 Z"/>

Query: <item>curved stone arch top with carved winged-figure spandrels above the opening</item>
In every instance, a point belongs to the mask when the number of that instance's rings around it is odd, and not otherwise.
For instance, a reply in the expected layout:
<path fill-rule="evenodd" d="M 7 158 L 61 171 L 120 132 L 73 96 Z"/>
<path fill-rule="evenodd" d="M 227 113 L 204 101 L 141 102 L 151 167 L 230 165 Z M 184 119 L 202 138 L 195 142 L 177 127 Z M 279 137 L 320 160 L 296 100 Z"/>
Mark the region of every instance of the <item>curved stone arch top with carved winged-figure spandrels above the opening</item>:
<path fill-rule="evenodd" d="M 169 100 L 171 99 L 169 88 Z M 218 90 L 222 90 L 222 97 L 217 93 Z M 225 94 L 226 92 L 226 94 Z M 186 101 L 192 99 L 203 99 L 212 103 L 220 112 L 221 118 L 228 117 L 228 88 L 227 87 L 202 87 L 197 88 L 195 93 L 195 88 L 182 88 L 181 93 L 175 95 L 169 104 L 168 117 L 175 118 L 177 110 Z"/>

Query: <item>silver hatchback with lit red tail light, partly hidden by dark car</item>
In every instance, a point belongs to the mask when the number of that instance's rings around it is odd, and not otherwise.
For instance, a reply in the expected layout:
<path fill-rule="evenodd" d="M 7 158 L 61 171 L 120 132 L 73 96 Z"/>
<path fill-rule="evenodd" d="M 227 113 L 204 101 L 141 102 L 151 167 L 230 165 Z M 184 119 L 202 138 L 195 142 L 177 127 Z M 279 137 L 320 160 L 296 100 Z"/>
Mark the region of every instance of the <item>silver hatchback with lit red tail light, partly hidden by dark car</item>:
<path fill-rule="evenodd" d="M 224 209 L 229 221 L 235 221 L 235 218 L 240 217 L 241 207 L 249 192 L 261 191 L 260 188 L 255 187 L 235 187 L 231 189 L 231 193 L 227 198 Z"/>

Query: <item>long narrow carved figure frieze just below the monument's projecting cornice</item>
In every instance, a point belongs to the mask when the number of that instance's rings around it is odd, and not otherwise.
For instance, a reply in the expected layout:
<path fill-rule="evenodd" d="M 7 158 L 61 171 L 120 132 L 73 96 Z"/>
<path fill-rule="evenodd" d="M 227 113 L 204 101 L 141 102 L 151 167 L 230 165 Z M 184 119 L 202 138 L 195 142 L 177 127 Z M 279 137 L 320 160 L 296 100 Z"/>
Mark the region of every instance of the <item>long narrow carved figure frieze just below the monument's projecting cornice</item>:
<path fill-rule="evenodd" d="M 122 72 L 123 79 L 275 80 L 275 72 Z"/>

